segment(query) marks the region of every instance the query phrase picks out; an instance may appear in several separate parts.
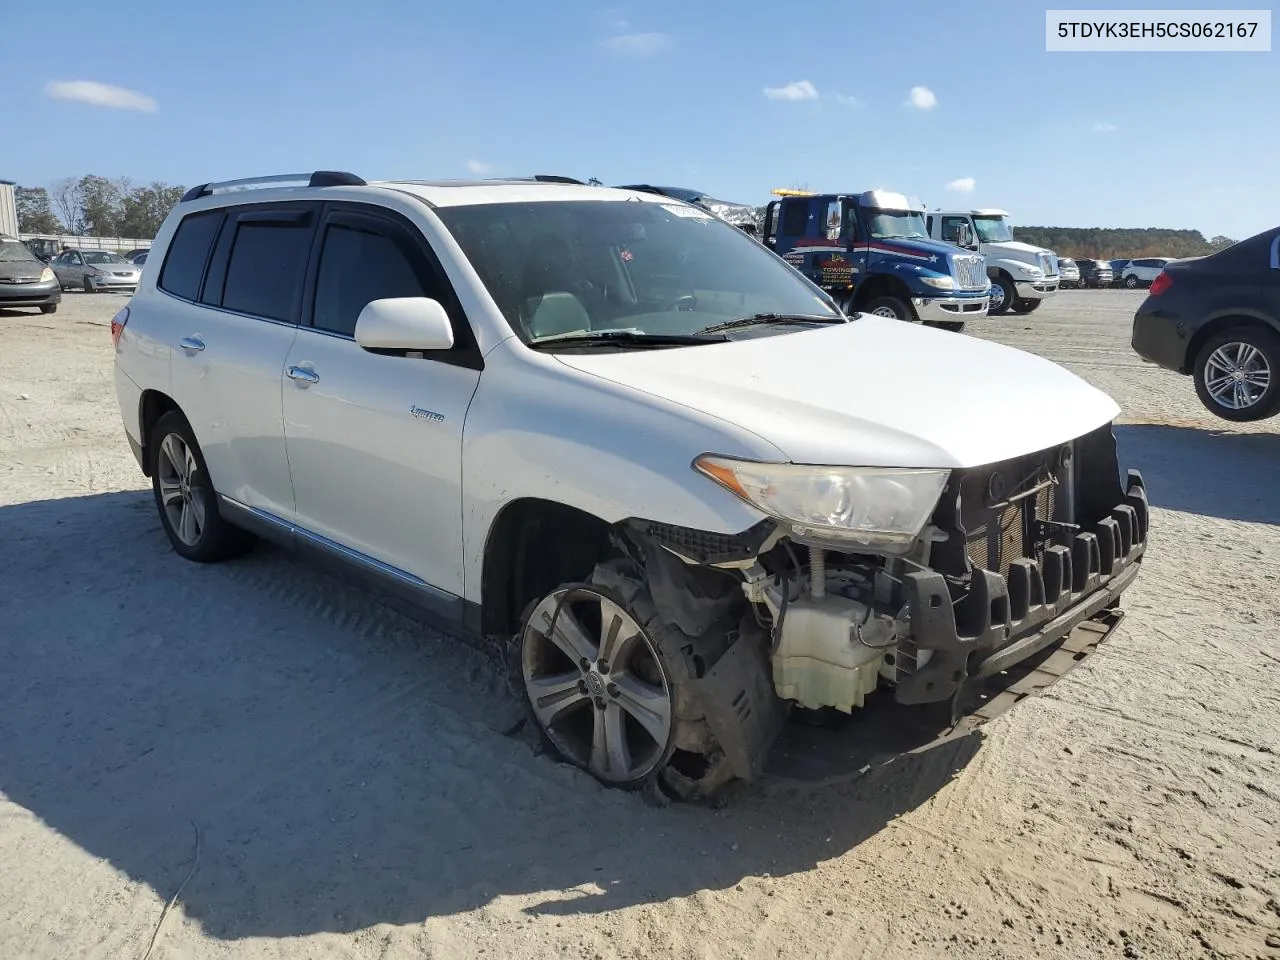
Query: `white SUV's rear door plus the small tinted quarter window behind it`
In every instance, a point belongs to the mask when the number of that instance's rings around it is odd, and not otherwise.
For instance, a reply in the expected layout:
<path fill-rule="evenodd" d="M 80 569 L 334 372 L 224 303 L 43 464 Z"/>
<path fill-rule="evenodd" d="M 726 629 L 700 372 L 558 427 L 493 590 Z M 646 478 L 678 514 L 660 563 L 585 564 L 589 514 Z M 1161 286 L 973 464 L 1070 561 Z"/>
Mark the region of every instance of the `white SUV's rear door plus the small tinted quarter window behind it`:
<path fill-rule="evenodd" d="M 178 227 L 157 284 L 178 301 L 169 324 L 174 399 L 215 489 L 280 520 L 293 516 L 280 378 L 319 214 L 314 202 L 192 214 Z M 209 243 L 207 270 L 193 289 L 191 268 Z"/>

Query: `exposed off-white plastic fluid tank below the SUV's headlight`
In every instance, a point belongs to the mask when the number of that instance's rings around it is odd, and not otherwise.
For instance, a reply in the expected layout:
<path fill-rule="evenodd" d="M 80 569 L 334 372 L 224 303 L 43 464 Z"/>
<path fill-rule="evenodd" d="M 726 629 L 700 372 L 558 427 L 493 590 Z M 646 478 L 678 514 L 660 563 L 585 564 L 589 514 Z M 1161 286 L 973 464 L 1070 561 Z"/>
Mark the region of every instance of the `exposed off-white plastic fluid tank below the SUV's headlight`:
<path fill-rule="evenodd" d="M 861 628 L 861 641 L 855 626 Z M 893 623 L 883 617 L 868 620 L 867 607 L 858 600 L 831 594 L 795 600 L 787 604 L 782 639 L 773 653 L 773 686 L 783 700 L 801 707 L 852 713 L 876 689 L 893 636 Z"/>

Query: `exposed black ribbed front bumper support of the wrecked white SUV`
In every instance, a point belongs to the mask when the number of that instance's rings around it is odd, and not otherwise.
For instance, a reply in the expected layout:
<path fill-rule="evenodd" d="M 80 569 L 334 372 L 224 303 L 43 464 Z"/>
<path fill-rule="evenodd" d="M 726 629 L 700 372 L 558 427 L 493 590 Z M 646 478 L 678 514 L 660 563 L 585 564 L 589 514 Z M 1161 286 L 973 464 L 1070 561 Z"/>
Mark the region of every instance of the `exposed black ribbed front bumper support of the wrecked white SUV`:
<path fill-rule="evenodd" d="M 956 627 L 946 579 L 936 571 L 906 575 L 911 634 L 899 644 L 895 699 L 959 700 L 973 682 L 1010 671 L 1055 644 L 1061 648 L 1076 630 L 1114 617 L 1120 594 L 1138 573 L 1147 526 L 1146 486 L 1130 470 L 1123 502 L 1093 531 L 1076 534 L 1070 547 L 1050 547 L 1041 561 L 1014 561 L 1007 577 L 975 570 L 970 589 L 983 616 L 965 635 Z"/>

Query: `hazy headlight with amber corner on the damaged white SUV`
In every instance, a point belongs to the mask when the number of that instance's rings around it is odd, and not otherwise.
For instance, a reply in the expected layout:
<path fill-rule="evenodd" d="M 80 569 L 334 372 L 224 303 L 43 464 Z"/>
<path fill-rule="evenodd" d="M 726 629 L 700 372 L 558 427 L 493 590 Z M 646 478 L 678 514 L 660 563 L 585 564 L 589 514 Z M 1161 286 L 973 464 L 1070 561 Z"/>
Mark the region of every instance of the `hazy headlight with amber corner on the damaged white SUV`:
<path fill-rule="evenodd" d="M 703 454 L 694 468 L 800 539 L 905 553 L 946 486 L 948 470 L 756 463 Z"/>

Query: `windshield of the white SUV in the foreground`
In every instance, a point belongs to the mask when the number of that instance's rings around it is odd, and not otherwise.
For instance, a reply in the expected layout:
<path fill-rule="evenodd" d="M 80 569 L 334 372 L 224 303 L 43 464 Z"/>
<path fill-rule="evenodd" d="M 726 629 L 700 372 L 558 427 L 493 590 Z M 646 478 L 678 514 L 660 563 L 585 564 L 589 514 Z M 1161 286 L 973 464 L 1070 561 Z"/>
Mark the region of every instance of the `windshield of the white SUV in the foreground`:
<path fill-rule="evenodd" d="M 842 319 L 742 230 L 682 205 L 580 200 L 435 212 L 525 343 L 608 330 L 630 340 L 694 335 L 758 314 Z"/>

